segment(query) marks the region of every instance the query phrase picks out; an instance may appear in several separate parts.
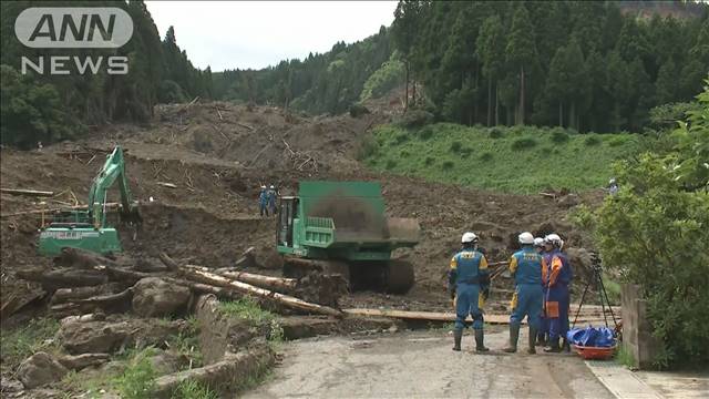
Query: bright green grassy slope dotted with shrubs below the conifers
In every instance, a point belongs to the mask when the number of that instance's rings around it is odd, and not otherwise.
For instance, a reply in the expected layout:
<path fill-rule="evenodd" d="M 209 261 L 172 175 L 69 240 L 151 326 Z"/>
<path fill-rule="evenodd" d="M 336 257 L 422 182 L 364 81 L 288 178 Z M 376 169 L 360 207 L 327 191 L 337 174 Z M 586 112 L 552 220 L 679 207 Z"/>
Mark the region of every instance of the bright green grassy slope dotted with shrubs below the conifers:
<path fill-rule="evenodd" d="M 407 140 L 401 139 L 404 134 Z M 633 134 L 452 123 L 420 130 L 382 125 L 366 141 L 369 151 L 361 161 L 370 168 L 516 194 L 603 187 L 613 174 L 612 164 L 639 150 Z M 402 151 L 411 155 L 402 157 Z"/>

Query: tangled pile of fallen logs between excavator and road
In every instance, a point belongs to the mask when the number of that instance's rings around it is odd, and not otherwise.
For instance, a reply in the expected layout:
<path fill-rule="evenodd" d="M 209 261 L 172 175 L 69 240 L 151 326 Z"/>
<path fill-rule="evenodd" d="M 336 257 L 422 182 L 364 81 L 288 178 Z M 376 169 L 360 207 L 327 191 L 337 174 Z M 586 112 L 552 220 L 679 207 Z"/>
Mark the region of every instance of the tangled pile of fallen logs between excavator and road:
<path fill-rule="evenodd" d="M 250 255 L 246 253 L 244 258 Z M 50 311 L 58 317 L 102 313 L 123 313 L 131 308 L 133 286 L 147 277 L 160 277 L 172 284 L 188 287 L 194 294 L 214 294 L 220 298 L 238 299 L 244 296 L 258 298 L 275 308 L 295 313 L 341 317 L 335 307 L 306 301 L 296 297 L 300 282 L 245 273 L 236 268 L 213 269 L 197 265 L 179 265 L 167 254 L 160 255 L 165 267 L 145 268 L 141 272 L 124 260 L 110 259 L 90 252 L 64 248 L 54 260 L 58 268 L 51 270 L 22 270 L 18 277 L 38 282 L 51 293 Z M 332 276 L 332 278 L 341 278 Z M 331 301 L 330 301 L 331 303 Z"/>

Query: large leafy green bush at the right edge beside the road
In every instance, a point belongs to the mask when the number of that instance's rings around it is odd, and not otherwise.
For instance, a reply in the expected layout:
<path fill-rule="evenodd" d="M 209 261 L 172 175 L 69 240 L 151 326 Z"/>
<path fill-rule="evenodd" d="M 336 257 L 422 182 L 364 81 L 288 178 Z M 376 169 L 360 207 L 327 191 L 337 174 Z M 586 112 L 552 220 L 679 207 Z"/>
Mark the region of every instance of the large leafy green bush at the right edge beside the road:
<path fill-rule="evenodd" d="M 709 79 L 674 145 L 616 165 L 621 190 L 599 209 L 604 262 L 643 287 L 656 365 L 709 364 Z"/>

